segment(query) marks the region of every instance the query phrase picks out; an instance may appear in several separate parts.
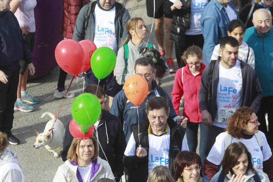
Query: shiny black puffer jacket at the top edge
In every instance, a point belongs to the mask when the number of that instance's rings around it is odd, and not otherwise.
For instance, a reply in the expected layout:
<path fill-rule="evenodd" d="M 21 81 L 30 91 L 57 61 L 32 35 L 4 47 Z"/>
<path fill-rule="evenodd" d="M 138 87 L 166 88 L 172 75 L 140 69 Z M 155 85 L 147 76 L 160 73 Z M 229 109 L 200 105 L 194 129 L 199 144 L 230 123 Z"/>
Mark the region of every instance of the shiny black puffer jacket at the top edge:
<path fill-rule="evenodd" d="M 190 5 L 191 0 L 181 1 L 183 6 L 181 9 L 171 10 L 171 6 L 174 4 L 167 0 L 164 4 L 164 12 L 167 14 L 174 13 L 172 27 L 170 31 L 170 40 L 174 41 L 180 46 L 185 46 L 185 31 L 190 29 Z"/>

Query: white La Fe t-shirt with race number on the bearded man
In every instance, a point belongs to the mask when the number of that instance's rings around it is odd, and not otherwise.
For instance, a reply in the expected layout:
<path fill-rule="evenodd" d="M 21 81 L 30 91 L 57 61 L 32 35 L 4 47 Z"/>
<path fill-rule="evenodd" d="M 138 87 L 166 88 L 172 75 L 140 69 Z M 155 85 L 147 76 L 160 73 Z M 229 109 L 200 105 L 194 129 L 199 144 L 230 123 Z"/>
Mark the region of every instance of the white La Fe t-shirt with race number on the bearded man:
<path fill-rule="evenodd" d="M 219 62 L 219 82 L 217 85 L 217 112 L 213 125 L 227 127 L 227 119 L 239 108 L 242 90 L 242 71 L 240 61 L 230 69 L 226 69 Z"/>

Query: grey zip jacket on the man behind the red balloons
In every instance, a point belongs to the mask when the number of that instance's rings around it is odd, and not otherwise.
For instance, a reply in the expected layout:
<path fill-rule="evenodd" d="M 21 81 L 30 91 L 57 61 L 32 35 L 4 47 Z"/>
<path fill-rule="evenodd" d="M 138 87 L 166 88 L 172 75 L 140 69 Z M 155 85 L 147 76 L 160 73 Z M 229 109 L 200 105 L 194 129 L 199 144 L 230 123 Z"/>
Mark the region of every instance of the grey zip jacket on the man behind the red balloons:
<path fill-rule="evenodd" d="M 94 11 L 95 11 L 95 6 L 96 6 L 97 2 L 94 1 L 94 2 L 90 2 L 90 3 L 92 3 L 91 13 L 89 16 L 89 21 L 86 21 L 86 23 L 88 22 L 88 25 L 85 25 L 85 27 L 87 26 L 87 29 L 85 31 L 84 39 L 88 39 L 88 40 L 93 41 L 94 40 L 94 29 L 95 29 Z M 83 6 L 83 8 L 80 10 L 79 15 L 76 19 L 76 24 L 75 24 L 75 29 L 74 29 L 72 39 L 76 40 L 77 42 L 83 40 L 83 20 L 84 20 L 84 15 L 85 15 L 88 5 L 89 4 Z M 116 6 L 116 17 L 115 17 L 114 23 L 115 23 L 115 30 L 116 30 L 116 42 L 117 42 L 118 47 L 120 48 L 121 43 L 123 42 L 123 40 L 127 36 L 126 23 L 130 19 L 130 14 L 129 14 L 128 10 L 124 7 L 123 4 L 121 4 L 119 2 L 115 2 L 115 6 Z M 121 18 L 122 22 L 120 22 L 119 17 L 121 16 L 122 12 L 124 12 L 124 13 Z"/>

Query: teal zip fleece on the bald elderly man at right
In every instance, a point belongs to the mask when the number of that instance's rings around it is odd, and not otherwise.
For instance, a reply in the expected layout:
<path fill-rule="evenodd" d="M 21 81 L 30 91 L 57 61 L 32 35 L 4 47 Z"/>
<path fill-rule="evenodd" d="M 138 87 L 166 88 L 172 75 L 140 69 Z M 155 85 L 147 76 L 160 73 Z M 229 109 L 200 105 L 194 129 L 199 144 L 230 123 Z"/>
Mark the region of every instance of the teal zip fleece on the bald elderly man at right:
<path fill-rule="evenodd" d="M 246 29 L 243 41 L 254 51 L 255 71 L 263 90 L 263 97 L 273 96 L 273 25 L 268 33 L 261 36 L 253 26 Z"/>

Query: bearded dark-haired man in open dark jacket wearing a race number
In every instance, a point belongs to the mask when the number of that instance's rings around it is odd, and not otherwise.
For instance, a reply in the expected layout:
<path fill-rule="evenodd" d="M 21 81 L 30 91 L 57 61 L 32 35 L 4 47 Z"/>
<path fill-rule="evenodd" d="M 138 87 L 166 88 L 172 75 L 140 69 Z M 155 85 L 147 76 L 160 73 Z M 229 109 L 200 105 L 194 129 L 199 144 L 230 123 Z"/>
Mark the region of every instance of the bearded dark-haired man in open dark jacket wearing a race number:
<path fill-rule="evenodd" d="M 211 61 L 201 76 L 198 99 L 202 122 L 209 126 L 209 150 L 239 107 L 248 106 L 255 113 L 260 107 L 262 89 L 257 74 L 246 62 L 238 60 L 238 49 L 234 37 L 222 38 L 221 57 Z"/>

